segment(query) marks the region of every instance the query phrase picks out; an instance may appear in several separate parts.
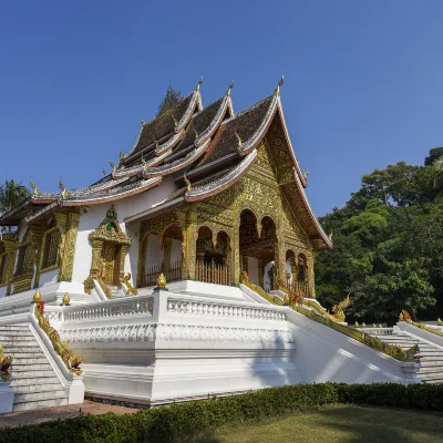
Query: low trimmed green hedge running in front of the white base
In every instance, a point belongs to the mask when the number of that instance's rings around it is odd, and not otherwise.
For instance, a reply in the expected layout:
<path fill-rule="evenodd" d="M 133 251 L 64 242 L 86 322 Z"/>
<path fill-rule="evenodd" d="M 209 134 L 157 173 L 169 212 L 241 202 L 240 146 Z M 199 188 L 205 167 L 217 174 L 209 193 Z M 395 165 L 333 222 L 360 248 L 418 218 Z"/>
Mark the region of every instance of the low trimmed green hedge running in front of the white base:
<path fill-rule="evenodd" d="M 80 415 L 65 421 L 3 429 L 0 443 L 179 442 L 222 425 L 277 418 L 333 403 L 443 412 L 443 385 L 320 383 L 271 388 L 241 395 L 142 410 L 135 414 Z"/>

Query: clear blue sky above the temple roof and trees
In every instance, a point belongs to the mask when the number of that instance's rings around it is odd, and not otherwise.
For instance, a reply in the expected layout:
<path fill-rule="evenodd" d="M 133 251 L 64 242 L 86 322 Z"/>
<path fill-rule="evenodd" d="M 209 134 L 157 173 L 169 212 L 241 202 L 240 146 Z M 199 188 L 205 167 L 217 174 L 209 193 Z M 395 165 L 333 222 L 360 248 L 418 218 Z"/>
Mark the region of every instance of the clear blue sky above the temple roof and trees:
<path fill-rule="evenodd" d="M 443 1 L 3 1 L 0 182 L 89 185 L 169 83 L 236 111 L 285 73 L 286 120 L 321 216 L 364 173 L 443 145 Z"/>

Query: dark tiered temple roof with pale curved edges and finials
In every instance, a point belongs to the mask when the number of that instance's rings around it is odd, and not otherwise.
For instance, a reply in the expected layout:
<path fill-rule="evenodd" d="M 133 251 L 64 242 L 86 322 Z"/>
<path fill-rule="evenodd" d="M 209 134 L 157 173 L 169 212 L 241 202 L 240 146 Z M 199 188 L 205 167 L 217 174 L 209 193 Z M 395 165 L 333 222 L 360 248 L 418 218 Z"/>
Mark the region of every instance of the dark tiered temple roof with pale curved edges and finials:
<path fill-rule="evenodd" d="M 120 154 L 113 172 L 95 184 L 61 194 L 34 192 L 33 196 L 0 218 L 1 225 L 18 225 L 44 217 L 56 207 L 86 206 L 113 202 L 158 186 L 173 175 L 176 190 L 155 208 L 126 219 L 132 222 L 175 204 L 196 202 L 218 194 L 240 179 L 257 156 L 257 147 L 269 126 L 278 120 L 292 162 L 292 178 L 286 192 L 296 193 L 307 222 L 302 226 L 319 248 L 331 246 L 315 217 L 305 194 L 307 182 L 295 157 L 282 114 L 279 86 L 254 106 L 235 114 L 229 86 L 227 93 L 203 109 L 200 82 L 195 91 L 153 121 L 142 122 L 130 153 Z M 298 206 L 298 205 L 297 205 Z"/>

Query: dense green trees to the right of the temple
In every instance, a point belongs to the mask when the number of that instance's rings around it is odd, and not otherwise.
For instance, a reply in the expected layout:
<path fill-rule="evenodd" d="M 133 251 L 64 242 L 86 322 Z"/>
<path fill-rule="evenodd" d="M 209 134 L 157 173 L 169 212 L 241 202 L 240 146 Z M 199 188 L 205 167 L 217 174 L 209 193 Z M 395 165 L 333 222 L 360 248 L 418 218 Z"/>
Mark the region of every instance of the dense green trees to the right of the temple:
<path fill-rule="evenodd" d="M 327 307 L 350 292 L 358 320 L 393 322 L 401 309 L 443 316 L 442 155 L 434 148 L 426 166 L 400 162 L 364 175 L 344 207 L 321 219 L 334 240 L 316 264 Z"/>

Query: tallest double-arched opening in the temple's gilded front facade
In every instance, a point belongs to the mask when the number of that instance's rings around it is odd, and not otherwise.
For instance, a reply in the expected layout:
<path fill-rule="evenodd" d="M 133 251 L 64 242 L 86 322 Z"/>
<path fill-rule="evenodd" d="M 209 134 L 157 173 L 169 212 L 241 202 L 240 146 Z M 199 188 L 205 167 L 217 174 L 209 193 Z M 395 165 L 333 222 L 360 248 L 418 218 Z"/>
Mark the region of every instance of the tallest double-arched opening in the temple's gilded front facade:
<path fill-rule="evenodd" d="M 240 214 L 239 227 L 240 268 L 248 274 L 249 281 L 266 291 L 276 289 L 277 282 L 277 228 L 270 217 L 260 225 L 256 215 L 245 209 Z"/>

